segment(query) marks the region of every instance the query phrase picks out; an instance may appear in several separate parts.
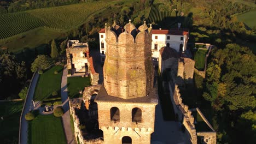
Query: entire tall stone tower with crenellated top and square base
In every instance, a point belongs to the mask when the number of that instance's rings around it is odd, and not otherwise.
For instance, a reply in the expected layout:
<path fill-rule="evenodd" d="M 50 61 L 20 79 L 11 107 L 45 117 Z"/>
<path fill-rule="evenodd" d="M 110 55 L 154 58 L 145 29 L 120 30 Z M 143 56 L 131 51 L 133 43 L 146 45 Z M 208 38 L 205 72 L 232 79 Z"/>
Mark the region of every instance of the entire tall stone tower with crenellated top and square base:
<path fill-rule="evenodd" d="M 95 99 L 104 143 L 150 143 L 155 105 L 152 27 L 115 22 L 106 31 L 104 82 Z"/>

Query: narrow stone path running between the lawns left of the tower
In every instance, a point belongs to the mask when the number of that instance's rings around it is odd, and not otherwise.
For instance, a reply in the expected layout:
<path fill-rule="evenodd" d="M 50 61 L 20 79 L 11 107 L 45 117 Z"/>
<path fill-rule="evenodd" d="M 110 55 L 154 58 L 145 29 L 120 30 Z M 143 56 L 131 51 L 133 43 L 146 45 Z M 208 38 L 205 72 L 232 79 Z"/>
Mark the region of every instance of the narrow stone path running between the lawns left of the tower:
<path fill-rule="evenodd" d="M 64 110 L 64 115 L 62 116 L 62 124 L 63 129 L 65 131 L 66 139 L 68 144 L 74 144 L 74 134 L 71 130 L 70 125 L 70 114 L 69 114 L 69 98 L 67 93 L 67 65 L 64 66 L 62 79 L 61 79 L 61 101 L 62 101 L 62 107 Z"/>

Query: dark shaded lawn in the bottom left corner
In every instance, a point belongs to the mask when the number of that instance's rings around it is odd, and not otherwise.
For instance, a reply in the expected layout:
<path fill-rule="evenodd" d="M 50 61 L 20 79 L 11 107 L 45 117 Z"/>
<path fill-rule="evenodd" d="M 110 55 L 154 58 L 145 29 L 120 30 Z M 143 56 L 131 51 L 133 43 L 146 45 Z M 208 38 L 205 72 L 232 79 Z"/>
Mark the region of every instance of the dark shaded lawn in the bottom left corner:
<path fill-rule="evenodd" d="M 0 143 L 18 143 L 23 104 L 24 101 L 0 102 Z"/>

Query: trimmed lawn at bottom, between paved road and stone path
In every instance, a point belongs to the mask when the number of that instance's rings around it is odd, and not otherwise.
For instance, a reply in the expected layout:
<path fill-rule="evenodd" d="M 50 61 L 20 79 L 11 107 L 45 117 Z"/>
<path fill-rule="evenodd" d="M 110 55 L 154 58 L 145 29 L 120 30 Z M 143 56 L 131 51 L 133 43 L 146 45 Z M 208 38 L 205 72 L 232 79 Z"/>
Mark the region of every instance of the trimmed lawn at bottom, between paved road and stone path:
<path fill-rule="evenodd" d="M 60 117 L 38 115 L 28 122 L 28 143 L 67 143 Z"/>

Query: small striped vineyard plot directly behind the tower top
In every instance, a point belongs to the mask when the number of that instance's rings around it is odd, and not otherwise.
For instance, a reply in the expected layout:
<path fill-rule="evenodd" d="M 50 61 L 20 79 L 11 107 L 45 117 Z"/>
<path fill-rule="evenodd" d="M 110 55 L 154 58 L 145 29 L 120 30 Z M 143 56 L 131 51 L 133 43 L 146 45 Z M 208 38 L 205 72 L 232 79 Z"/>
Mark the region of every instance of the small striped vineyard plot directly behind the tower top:
<path fill-rule="evenodd" d="M 159 5 L 162 5 L 162 4 L 163 3 L 154 3 L 152 5 L 148 19 L 147 19 L 149 23 L 160 22 L 166 17 L 171 17 L 175 15 L 174 11 L 160 11 Z"/>

